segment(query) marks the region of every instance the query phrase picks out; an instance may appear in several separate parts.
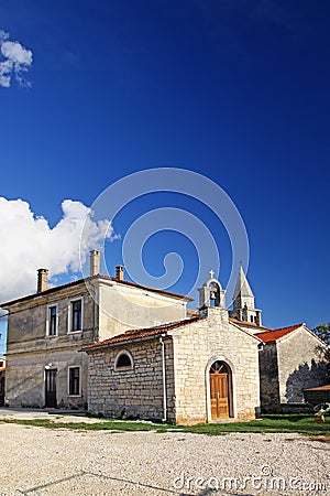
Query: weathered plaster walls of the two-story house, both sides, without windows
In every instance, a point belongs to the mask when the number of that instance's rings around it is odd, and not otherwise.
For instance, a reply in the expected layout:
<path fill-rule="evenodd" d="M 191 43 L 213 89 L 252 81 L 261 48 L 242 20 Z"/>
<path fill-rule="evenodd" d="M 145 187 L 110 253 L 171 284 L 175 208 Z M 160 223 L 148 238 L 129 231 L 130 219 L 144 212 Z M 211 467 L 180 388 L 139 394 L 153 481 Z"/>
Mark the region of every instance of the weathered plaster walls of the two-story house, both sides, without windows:
<path fill-rule="evenodd" d="M 124 295 L 120 295 L 120 291 Z M 82 300 L 82 332 L 72 333 L 70 302 L 79 298 Z M 56 336 L 47 335 L 51 305 L 57 305 Z M 41 292 L 34 298 L 18 301 L 9 310 L 7 403 L 42 408 L 45 405 L 45 367 L 52 363 L 58 370 L 57 403 L 70 408 L 73 405 L 82 407 L 87 402 L 87 360 L 81 358 L 81 354 L 77 355 L 82 346 L 125 331 L 129 315 L 134 328 L 184 319 L 186 302 L 179 298 L 92 279 L 87 284 L 82 281 L 56 291 Z M 117 321 L 113 315 L 120 319 Z M 81 366 L 80 398 L 67 393 L 70 365 Z"/>

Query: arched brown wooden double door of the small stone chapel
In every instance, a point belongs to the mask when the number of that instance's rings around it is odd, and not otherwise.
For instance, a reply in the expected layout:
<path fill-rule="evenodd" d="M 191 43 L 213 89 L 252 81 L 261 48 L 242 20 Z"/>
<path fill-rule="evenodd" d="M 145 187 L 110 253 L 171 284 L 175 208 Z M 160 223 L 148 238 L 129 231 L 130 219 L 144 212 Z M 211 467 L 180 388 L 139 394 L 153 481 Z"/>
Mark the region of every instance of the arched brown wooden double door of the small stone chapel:
<path fill-rule="evenodd" d="M 233 417 L 232 375 L 226 362 L 215 362 L 209 371 L 211 419 Z"/>

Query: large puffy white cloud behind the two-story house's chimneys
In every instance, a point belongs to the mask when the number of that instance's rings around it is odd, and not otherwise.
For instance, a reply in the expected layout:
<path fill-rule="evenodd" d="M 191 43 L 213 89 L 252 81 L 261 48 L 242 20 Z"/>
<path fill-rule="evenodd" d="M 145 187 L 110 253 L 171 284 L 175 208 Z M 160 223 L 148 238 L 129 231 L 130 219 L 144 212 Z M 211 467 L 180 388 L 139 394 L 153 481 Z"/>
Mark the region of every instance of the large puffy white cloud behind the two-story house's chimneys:
<path fill-rule="evenodd" d="M 111 223 L 95 222 L 81 202 L 65 200 L 62 209 L 63 217 L 51 228 L 28 202 L 0 197 L 0 303 L 34 292 L 38 268 L 50 269 L 50 277 L 76 272 L 80 256 L 84 262 L 105 238 L 116 238 Z"/>

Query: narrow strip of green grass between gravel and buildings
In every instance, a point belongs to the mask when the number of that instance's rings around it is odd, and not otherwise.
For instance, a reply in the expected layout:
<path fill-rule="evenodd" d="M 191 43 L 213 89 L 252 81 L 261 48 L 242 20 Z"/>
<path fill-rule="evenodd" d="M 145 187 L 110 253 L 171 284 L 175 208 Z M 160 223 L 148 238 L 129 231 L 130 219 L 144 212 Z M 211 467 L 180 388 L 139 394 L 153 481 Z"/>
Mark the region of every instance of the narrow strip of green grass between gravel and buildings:
<path fill-rule="evenodd" d="M 34 425 L 51 429 L 75 429 L 90 431 L 157 431 L 157 432 L 190 432 L 195 434 L 220 435 L 230 432 L 244 433 L 299 433 L 306 435 L 330 436 L 330 418 L 324 423 L 315 422 L 310 414 L 267 414 L 262 420 L 252 420 L 250 422 L 223 422 L 223 423 L 202 423 L 198 425 L 168 425 L 152 422 L 139 422 L 127 420 L 102 420 L 95 423 L 88 422 L 61 422 L 44 419 L 22 420 L 6 419 L 1 422 L 18 423 L 21 425 Z"/>

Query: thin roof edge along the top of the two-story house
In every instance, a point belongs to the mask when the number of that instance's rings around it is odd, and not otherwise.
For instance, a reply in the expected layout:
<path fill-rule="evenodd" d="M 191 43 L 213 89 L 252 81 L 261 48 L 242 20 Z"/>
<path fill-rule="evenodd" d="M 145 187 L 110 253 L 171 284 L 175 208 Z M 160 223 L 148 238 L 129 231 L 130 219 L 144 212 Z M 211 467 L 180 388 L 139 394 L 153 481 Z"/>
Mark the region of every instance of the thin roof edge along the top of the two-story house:
<path fill-rule="evenodd" d="M 105 279 L 107 281 L 113 281 L 113 282 L 117 282 L 119 284 L 131 285 L 133 288 L 139 288 L 139 289 L 142 289 L 142 290 L 145 290 L 145 291 L 152 291 L 154 293 L 165 294 L 167 296 L 173 296 L 173 298 L 182 299 L 182 300 L 185 300 L 185 301 L 194 301 L 194 298 L 187 296 L 185 294 L 173 293 L 170 291 L 164 291 L 164 290 L 160 290 L 160 289 L 155 289 L 155 288 L 150 288 L 147 285 L 142 285 L 142 284 L 138 284 L 135 282 L 130 282 L 130 281 L 124 281 L 124 280 L 119 281 L 117 278 L 112 278 L 111 276 L 97 274 L 97 276 L 89 276 L 89 277 L 87 277 L 85 279 L 78 279 L 77 281 L 67 282 L 66 284 L 61 284 L 61 285 L 57 285 L 55 288 L 50 288 L 46 291 L 42 291 L 41 293 L 29 294 L 28 296 L 23 296 L 23 298 L 16 299 L 16 300 L 8 301 L 6 303 L 1 303 L 0 306 L 6 310 L 7 306 L 12 306 L 12 305 L 14 305 L 16 303 L 21 303 L 21 302 L 24 302 L 24 301 L 33 300 L 34 298 L 44 296 L 46 294 L 52 294 L 52 293 L 54 293 L 56 291 L 59 291 L 62 289 L 72 288 L 72 287 L 75 287 L 75 285 L 78 285 L 78 284 L 82 284 L 82 283 L 89 282 L 89 281 L 95 280 L 95 279 Z"/>

